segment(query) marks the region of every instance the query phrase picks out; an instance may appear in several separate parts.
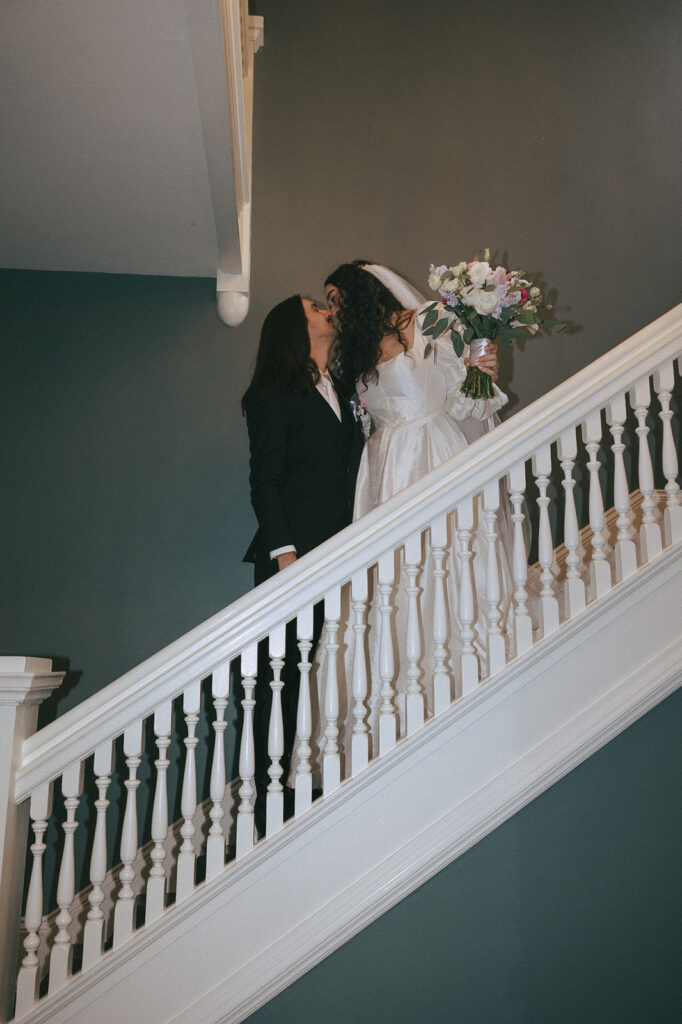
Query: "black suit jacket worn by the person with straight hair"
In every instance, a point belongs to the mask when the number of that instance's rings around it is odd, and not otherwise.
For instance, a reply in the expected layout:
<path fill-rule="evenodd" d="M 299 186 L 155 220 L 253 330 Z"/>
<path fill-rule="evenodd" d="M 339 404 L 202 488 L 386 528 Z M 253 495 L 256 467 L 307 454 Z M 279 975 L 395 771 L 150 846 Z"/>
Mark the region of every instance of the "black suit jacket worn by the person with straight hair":
<path fill-rule="evenodd" d="M 352 519 L 364 437 L 340 393 L 339 406 L 340 422 L 311 388 L 261 394 L 247 408 L 258 530 L 245 561 L 256 562 L 261 579 L 276 569 L 270 551 L 293 544 L 300 557 Z"/>

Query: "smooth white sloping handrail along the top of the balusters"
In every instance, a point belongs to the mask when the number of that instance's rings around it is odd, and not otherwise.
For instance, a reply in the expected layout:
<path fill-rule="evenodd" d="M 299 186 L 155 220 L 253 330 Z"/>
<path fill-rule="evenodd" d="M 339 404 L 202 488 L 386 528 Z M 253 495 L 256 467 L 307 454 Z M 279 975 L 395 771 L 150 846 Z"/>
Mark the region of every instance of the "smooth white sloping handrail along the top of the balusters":
<path fill-rule="evenodd" d="M 84 760 L 134 722 L 177 696 L 190 679 L 204 679 L 249 643 L 294 618 L 332 587 L 398 548 L 413 534 L 465 498 L 505 476 L 543 444 L 603 409 L 633 381 L 678 358 L 682 305 L 564 381 L 423 479 L 352 523 L 227 608 L 190 630 L 57 722 L 28 738 L 16 773 L 15 799 L 25 800 L 65 765 Z M 276 618 L 275 618 L 276 615 Z"/>

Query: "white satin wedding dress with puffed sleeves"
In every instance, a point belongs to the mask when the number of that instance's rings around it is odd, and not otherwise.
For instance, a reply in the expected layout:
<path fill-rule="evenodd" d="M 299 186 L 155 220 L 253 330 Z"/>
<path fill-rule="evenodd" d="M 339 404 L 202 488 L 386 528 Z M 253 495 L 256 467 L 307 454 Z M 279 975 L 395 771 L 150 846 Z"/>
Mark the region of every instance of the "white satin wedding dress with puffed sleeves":
<path fill-rule="evenodd" d="M 377 367 L 378 380 L 367 386 L 358 386 L 358 395 L 366 403 L 372 416 L 374 432 L 369 437 L 360 462 L 355 490 L 355 506 L 353 518 L 358 519 L 382 502 L 392 498 L 411 483 L 421 479 L 426 473 L 440 465 L 446 459 L 461 452 L 467 444 L 481 436 L 488 426 L 488 420 L 506 402 L 507 397 L 497 386 L 495 397 L 491 399 L 468 398 L 460 391 L 466 376 L 463 358 L 456 355 L 452 343 L 436 341 L 433 351 L 424 355 L 426 339 L 421 327 L 424 312 L 418 310 L 415 321 L 414 345 Z M 480 498 L 474 503 L 474 536 L 473 571 L 476 590 L 476 617 L 474 630 L 475 646 L 485 671 L 485 639 L 486 639 L 486 602 L 485 602 L 485 566 L 487 558 L 486 534 L 482 523 Z M 461 650 L 458 612 L 459 562 L 456 556 L 455 515 L 449 516 L 449 544 L 444 567 L 447 570 L 447 604 L 450 620 L 450 636 L 447 641 L 451 679 L 455 683 L 455 693 L 459 692 L 459 654 Z M 501 495 L 501 507 L 498 514 L 498 557 L 500 572 L 500 589 L 502 625 L 504 626 L 509 610 L 513 591 L 511 573 L 511 538 L 512 526 L 509 513 L 509 503 L 506 496 Z M 433 561 L 428 531 L 423 541 L 423 561 L 418 586 L 420 587 L 421 628 L 423 632 L 421 649 L 424 652 L 420 668 L 422 669 L 421 685 L 426 698 L 427 715 L 432 713 L 432 689 L 430 681 L 433 678 L 433 663 L 431 658 L 432 642 L 430 637 L 431 611 L 433 606 L 432 574 Z M 368 613 L 368 629 L 366 643 L 368 664 L 370 666 L 369 694 L 366 701 L 367 718 L 370 726 L 372 751 L 371 757 L 378 754 L 378 719 L 379 691 L 381 681 L 378 672 L 378 610 L 376 568 L 370 573 L 370 607 Z M 407 586 L 408 578 L 404 570 L 402 552 L 396 553 L 395 585 L 391 596 L 391 606 L 394 609 L 393 637 L 395 676 L 393 687 L 395 705 L 399 716 L 399 735 L 406 733 L 406 691 L 408 689 L 407 659 L 404 654 L 404 638 L 407 632 Z M 353 658 L 354 634 L 351 629 L 349 587 L 344 588 L 342 597 L 341 630 L 339 657 L 343 657 L 345 671 L 339 672 L 339 736 L 338 742 L 345 766 L 342 766 L 342 777 L 350 774 L 350 750 L 353 725 L 351 666 Z M 323 631 L 317 647 L 314 665 L 316 678 L 317 709 L 314 714 L 316 727 L 312 737 L 313 766 L 322 764 L 324 751 L 324 708 L 325 681 L 327 676 L 326 631 Z M 341 668 L 341 667 L 339 667 Z M 317 717 L 318 715 L 318 717 Z M 314 770 L 314 767 L 313 767 Z"/>

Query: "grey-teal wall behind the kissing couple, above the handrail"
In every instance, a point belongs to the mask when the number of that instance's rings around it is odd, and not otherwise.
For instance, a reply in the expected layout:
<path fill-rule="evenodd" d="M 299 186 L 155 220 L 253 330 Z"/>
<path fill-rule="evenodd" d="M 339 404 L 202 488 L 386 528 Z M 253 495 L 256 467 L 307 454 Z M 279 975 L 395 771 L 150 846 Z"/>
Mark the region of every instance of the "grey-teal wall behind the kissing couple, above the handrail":
<path fill-rule="evenodd" d="M 250 586 L 239 398 L 266 310 L 358 256 L 425 286 L 483 245 L 580 330 L 504 358 L 531 401 L 680 299 L 682 8 L 259 0 L 252 311 L 209 281 L 2 275 L 0 651 L 48 714 Z"/>

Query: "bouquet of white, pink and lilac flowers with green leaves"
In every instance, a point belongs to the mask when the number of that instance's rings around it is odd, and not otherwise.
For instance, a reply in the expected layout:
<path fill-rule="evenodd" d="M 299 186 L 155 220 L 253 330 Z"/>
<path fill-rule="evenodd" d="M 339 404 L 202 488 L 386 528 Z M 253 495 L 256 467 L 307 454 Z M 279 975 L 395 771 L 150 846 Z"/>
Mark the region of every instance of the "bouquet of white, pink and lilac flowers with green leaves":
<path fill-rule="evenodd" d="M 442 302 L 432 302 L 426 308 L 423 333 L 435 340 L 450 333 L 453 348 L 462 355 L 465 344 L 471 346 L 470 356 L 478 358 L 486 344 L 499 341 L 509 348 L 514 338 L 537 334 L 546 328 L 552 334 L 566 327 L 559 321 L 541 317 L 543 305 L 540 289 L 523 276 L 523 270 L 492 267 L 491 251 L 471 263 L 457 266 L 431 264 L 429 288 L 442 296 Z M 433 345 L 427 342 L 425 355 Z M 476 367 L 470 367 L 461 390 L 471 398 L 492 398 L 493 381 Z"/>

